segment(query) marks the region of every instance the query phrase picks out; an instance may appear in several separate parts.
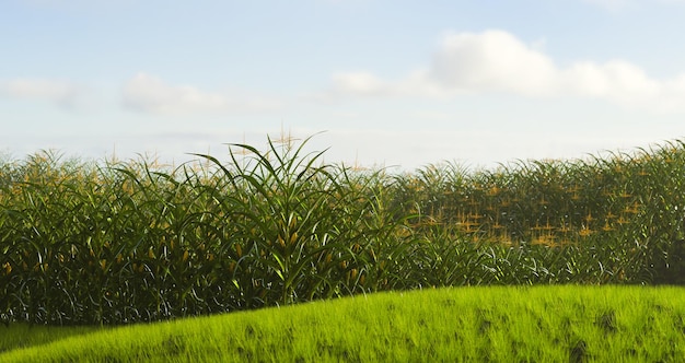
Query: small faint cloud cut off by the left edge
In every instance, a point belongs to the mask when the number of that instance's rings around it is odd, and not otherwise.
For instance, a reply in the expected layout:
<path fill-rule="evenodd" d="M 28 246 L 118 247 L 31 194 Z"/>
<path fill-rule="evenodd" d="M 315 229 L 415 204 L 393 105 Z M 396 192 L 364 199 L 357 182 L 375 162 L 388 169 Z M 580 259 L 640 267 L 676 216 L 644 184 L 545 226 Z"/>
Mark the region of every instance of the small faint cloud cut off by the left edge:
<path fill-rule="evenodd" d="M 73 108 L 83 93 L 72 82 L 46 79 L 15 79 L 0 83 L 7 97 L 48 101 L 62 108 Z"/>

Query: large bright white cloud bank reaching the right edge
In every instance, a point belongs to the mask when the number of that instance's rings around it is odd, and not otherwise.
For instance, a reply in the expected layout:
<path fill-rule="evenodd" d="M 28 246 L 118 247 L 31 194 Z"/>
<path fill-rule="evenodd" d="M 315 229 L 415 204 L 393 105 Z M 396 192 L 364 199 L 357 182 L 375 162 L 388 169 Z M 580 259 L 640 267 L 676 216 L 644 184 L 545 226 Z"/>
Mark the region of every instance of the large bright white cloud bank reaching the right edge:
<path fill-rule="evenodd" d="M 580 96 L 659 112 L 685 110 L 685 73 L 650 78 L 625 60 L 576 61 L 568 67 L 503 31 L 449 33 L 430 62 L 403 80 L 370 72 L 338 73 L 324 94 L 341 96 L 454 96 L 499 92 L 530 97 Z"/>

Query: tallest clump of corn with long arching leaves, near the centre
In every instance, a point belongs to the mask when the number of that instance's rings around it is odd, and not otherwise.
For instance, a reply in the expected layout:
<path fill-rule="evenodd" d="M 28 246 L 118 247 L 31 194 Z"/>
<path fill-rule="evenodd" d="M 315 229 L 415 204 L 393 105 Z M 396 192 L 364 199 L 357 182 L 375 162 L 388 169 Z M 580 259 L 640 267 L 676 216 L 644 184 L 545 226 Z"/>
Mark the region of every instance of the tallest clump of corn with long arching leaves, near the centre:
<path fill-rule="evenodd" d="M 243 152 L 230 165 L 199 155 L 228 180 L 211 194 L 233 229 L 229 278 L 247 307 L 376 289 L 382 245 L 402 222 L 382 208 L 375 176 L 318 164 L 323 152 L 304 154 L 305 143 L 232 144 Z"/>

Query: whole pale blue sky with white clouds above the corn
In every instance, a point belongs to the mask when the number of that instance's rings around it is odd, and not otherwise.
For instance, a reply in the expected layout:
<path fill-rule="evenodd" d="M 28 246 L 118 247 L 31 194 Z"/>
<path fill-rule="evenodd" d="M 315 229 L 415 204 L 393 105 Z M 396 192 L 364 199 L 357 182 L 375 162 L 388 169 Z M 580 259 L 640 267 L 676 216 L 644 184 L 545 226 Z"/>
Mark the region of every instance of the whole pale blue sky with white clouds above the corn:
<path fill-rule="evenodd" d="M 634 152 L 685 136 L 683 19 L 683 0 L 1 0 L 0 153 L 176 165 L 311 137 L 325 162 L 411 171 Z"/>

